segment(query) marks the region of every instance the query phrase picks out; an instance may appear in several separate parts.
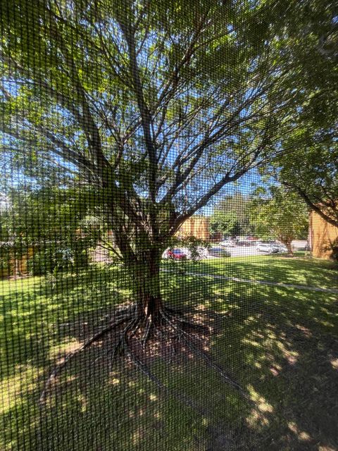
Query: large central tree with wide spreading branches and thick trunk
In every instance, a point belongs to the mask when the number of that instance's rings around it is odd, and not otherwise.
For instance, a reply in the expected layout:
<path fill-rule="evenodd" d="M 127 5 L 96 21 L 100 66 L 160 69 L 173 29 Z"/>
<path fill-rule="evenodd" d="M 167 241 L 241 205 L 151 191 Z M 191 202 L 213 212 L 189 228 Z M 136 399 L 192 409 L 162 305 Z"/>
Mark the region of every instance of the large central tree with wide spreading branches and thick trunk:
<path fill-rule="evenodd" d="M 161 298 L 163 249 L 271 158 L 279 123 L 292 128 L 297 4 L 1 2 L 3 159 L 18 177 L 54 168 L 91 190 L 133 280 L 124 339 L 178 328 Z"/>

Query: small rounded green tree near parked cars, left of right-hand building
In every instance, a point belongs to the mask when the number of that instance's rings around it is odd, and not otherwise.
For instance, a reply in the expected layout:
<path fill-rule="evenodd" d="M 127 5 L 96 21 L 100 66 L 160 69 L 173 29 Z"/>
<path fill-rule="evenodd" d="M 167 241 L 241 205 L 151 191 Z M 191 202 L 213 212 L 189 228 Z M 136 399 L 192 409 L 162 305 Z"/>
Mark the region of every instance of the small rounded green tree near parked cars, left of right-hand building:
<path fill-rule="evenodd" d="M 271 187 L 270 197 L 256 199 L 251 211 L 256 235 L 275 237 L 293 255 L 292 240 L 308 233 L 308 210 L 306 204 L 294 192 L 283 187 Z"/>

